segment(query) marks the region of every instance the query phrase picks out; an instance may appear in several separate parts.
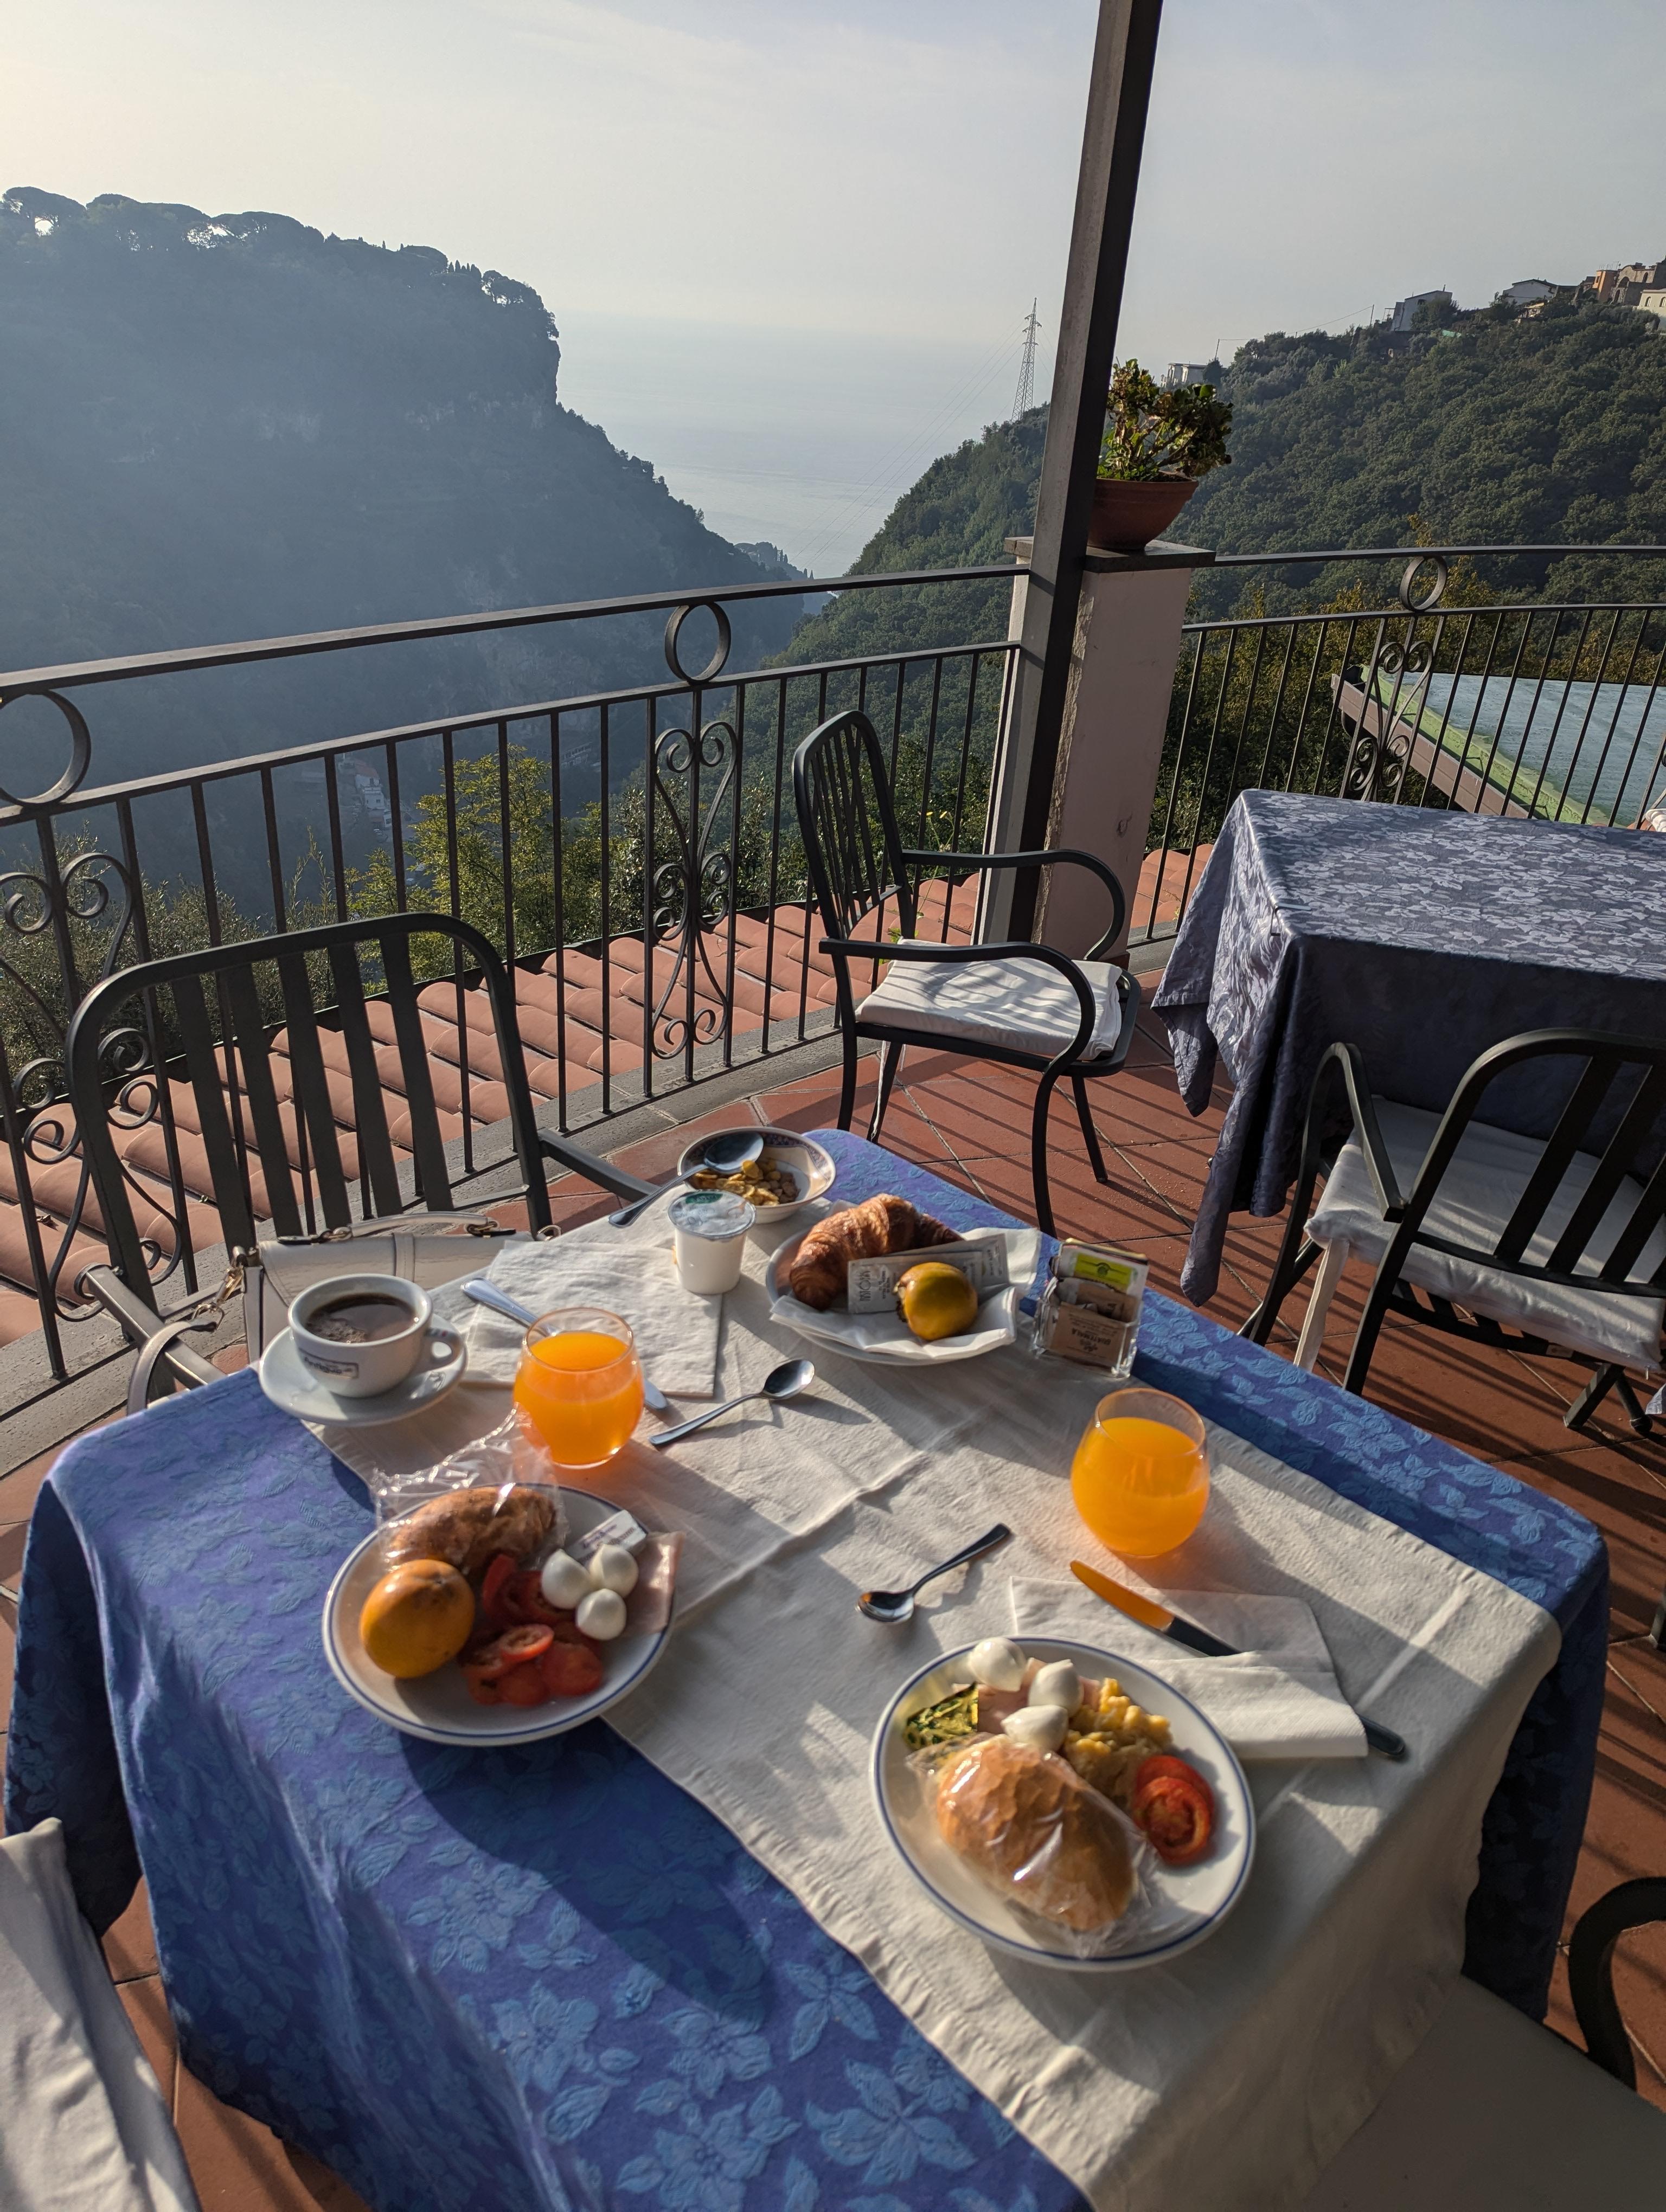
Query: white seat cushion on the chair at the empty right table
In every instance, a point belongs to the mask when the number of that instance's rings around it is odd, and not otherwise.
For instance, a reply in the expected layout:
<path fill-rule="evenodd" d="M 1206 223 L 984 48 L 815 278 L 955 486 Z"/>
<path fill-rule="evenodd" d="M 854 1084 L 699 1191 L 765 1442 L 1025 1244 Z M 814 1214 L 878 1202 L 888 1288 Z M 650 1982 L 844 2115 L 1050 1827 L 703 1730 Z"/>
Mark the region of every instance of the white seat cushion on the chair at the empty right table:
<path fill-rule="evenodd" d="M 1429 1150 L 1440 1115 L 1423 1113 L 1418 1106 L 1396 1106 L 1392 1099 L 1376 1102 L 1376 1117 L 1383 1128 L 1383 1144 L 1394 1161 L 1394 1177 L 1403 1194 L 1412 1192 L 1423 1155 Z M 1487 1121 L 1471 1121 L 1458 1150 L 1440 1179 L 1440 1192 L 1423 1217 L 1423 1225 L 1436 1237 L 1454 1243 L 1491 1245 L 1516 1210 L 1516 1201 L 1527 1188 L 1527 1179 L 1540 1161 L 1544 1148 L 1533 1137 L 1513 1137 L 1504 1128 Z M 1524 1259 L 1544 1265 L 1555 1239 L 1566 1228 L 1569 1214 L 1586 1183 L 1595 1175 L 1593 1152 L 1575 1152 L 1562 1188 L 1544 1210 L 1544 1221 L 1527 1245 Z M 1597 1234 L 1580 1261 L 1580 1274 L 1595 1274 L 1597 1265 L 1613 1250 L 1613 1241 L 1631 1219 L 1642 1186 L 1626 1177 L 1608 1212 L 1602 1217 Z M 1350 1137 L 1325 1183 L 1308 1234 L 1319 1245 L 1347 1243 L 1361 1259 L 1381 1261 L 1387 1252 L 1392 1228 L 1383 1221 L 1372 1188 L 1365 1155 L 1358 1137 Z M 1646 1283 L 1666 1259 L 1666 1230 L 1655 1230 L 1642 1259 L 1631 1270 L 1633 1281 Z M 1600 1360 L 1620 1360 L 1626 1367 L 1657 1367 L 1662 1310 L 1666 1298 L 1615 1298 L 1600 1290 L 1558 1290 L 1549 1283 L 1533 1283 L 1527 1276 L 1509 1274 L 1500 1267 L 1478 1267 L 1469 1261 L 1449 1259 L 1445 1252 L 1429 1252 L 1414 1245 L 1403 1270 L 1407 1283 L 1451 1298 L 1454 1305 L 1471 1314 L 1487 1314 L 1507 1327 L 1544 1336 L 1569 1352 L 1589 1352 Z"/>

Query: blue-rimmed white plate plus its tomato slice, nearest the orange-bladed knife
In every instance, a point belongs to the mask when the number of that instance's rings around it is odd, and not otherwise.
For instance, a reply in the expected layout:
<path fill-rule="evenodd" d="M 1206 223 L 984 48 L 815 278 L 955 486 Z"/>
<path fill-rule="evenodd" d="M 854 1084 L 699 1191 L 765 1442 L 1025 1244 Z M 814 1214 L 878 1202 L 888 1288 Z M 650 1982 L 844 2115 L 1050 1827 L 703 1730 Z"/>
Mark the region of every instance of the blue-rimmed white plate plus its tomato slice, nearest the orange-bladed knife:
<path fill-rule="evenodd" d="M 1254 1803 L 1237 1754 L 1188 1697 L 1122 1652 L 1060 1637 L 1016 1635 L 1011 1641 L 1042 1663 L 1069 1659 L 1084 1679 L 1115 1674 L 1126 1697 L 1166 1717 L 1170 1752 L 1139 1765 L 1133 1801 L 1122 1807 L 1150 1845 L 1142 1876 L 1148 1907 L 1131 1916 L 1122 1949 L 1080 1958 L 1060 1929 L 1009 1905 L 943 1840 L 903 1725 L 971 1681 L 971 1644 L 912 1674 L 874 1732 L 874 1803 L 896 1854 L 949 1920 L 1035 1966 L 1128 1973 L 1190 1951 L 1226 1920 L 1250 1878 Z"/>

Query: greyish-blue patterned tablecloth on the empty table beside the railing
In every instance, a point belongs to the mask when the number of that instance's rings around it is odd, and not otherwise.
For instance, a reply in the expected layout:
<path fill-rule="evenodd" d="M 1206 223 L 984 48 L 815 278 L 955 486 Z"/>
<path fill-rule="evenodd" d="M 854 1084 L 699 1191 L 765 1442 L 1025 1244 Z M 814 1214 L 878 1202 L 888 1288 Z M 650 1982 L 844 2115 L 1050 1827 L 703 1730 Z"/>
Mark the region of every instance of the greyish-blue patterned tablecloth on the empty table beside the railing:
<path fill-rule="evenodd" d="M 1527 1029 L 1666 1031 L 1666 836 L 1243 792 L 1153 1004 L 1190 1110 L 1217 1057 L 1235 1086 L 1179 1279 L 1204 1305 L 1228 1212 L 1283 1212 L 1330 1044 L 1358 1044 L 1381 1097 L 1438 1110 Z M 1547 1137 L 1558 1075 L 1507 1077 L 1485 1119 Z"/>

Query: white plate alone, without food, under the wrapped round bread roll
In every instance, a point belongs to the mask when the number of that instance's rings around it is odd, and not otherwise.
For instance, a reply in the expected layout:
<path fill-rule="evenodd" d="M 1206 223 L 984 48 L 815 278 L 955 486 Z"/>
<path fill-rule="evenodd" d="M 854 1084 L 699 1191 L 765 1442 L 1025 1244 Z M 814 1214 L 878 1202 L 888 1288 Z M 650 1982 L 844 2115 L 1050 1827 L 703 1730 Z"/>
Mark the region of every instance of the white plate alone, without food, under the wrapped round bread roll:
<path fill-rule="evenodd" d="M 938 1834 L 920 1776 L 909 1767 L 909 1747 L 903 1736 L 903 1721 L 912 1712 L 934 1705 L 960 1683 L 971 1681 L 967 1668 L 971 1644 L 965 1644 L 958 1652 L 936 1659 L 905 1681 L 874 1734 L 874 1803 L 903 1865 L 949 1920 L 967 1929 L 969 1936 L 993 1944 L 996 1951 L 1024 1958 L 1033 1966 L 1064 1966 L 1073 1973 L 1131 1973 L 1135 1966 L 1150 1966 L 1190 1951 L 1193 1944 L 1215 1933 L 1243 1896 L 1254 1858 L 1254 1805 L 1232 1747 L 1188 1697 L 1173 1690 L 1162 1674 L 1135 1666 L 1120 1652 L 1100 1650 L 1095 1644 L 1064 1644 L 1058 1637 L 1016 1637 L 1013 1641 L 1033 1659 L 1069 1659 L 1082 1674 L 1115 1674 L 1135 1703 L 1168 1719 L 1175 1754 L 1190 1761 L 1215 1792 L 1215 1849 L 1195 1867 L 1166 1867 L 1155 1851 L 1148 1854 L 1146 1885 L 1157 1896 L 1159 1913 L 1150 1931 L 1137 1938 L 1131 1949 L 1117 1951 L 1115 1958 L 1075 1958 L 1060 1931 L 1049 1929 L 1042 1920 L 1031 1920 L 985 1887 L 982 1878 Z"/>

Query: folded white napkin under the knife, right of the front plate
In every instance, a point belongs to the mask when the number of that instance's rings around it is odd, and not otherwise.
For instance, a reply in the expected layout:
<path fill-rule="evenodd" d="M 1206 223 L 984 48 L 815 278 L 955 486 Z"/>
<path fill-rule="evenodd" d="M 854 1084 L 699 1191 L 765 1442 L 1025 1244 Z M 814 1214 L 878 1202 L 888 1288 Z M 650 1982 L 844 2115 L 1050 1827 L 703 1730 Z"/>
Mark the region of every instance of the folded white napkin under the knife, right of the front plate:
<path fill-rule="evenodd" d="M 1075 1577 L 1009 1584 L 1013 1635 L 1100 1644 L 1186 1694 L 1215 1721 L 1239 1759 L 1363 1759 L 1365 1730 L 1330 1663 L 1312 1606 L 1299 1597 L 1224 1597 L 1219 1590 L 1164 1590 L 1184 1619 L 1235 1644 L 1235 1659 L 1199 1659 L 1126 1613 L 1106 1606 Z"/>

